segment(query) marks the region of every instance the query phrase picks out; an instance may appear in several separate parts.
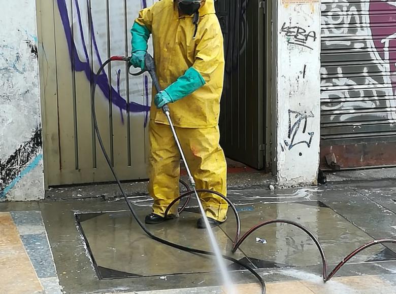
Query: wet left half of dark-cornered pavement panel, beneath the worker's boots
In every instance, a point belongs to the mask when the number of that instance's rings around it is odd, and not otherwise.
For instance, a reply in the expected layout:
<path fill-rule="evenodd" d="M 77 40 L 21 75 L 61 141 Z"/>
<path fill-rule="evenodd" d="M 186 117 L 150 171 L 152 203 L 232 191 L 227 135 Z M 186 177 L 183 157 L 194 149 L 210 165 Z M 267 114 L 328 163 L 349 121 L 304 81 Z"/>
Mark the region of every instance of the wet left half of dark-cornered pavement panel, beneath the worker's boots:
<path fill-rule="evenodd" d="M 139 214 L 144 217 L 148 212 Z M 199 217 L 200 214 L 184 212 L 179 219 L 148 229 L 171 242 L 212 251 L 206 231 L 196 228 Z M 80 214 L 78 218 L 96 272 L 102 279 L 215 272 L 217 269 L 212 256 L 180 251 L 150 239 L 137 226 L 129 211 Z M 229 254 L 232 241 L 218 227 L 213 228 L 213 234 L 221 253 Z M 233 257 L 240 260 L 245 255 L 237 251 Z M 226 266 L 230 264 L 226 262 Z"/>

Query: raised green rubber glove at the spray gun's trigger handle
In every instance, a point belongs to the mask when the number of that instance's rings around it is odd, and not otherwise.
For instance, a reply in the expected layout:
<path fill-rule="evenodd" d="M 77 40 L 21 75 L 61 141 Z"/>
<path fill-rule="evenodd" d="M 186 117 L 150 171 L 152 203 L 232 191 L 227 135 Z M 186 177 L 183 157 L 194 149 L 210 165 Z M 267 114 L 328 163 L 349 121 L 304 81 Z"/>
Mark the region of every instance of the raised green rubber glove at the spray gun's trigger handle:
<path fill-rule="evenodd" d="M 147 52 L 147 42 L 150 38 L 150 31 L 144 25 L 135 22 L 130 29 L 130 33 L 132 34 L 132 57 L 129 62 L 134 67 L 144 69 L 144 57 Z"/>

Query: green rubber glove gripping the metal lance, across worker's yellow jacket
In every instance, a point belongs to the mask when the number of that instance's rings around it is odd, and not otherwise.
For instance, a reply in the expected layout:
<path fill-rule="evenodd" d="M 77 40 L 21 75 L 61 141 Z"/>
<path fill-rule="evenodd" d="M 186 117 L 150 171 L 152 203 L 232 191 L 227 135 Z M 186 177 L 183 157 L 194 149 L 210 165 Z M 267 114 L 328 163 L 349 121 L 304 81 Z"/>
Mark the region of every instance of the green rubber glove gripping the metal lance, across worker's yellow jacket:
<path fill-rule="evenodd" d="M 181 98 L 190 95 L 192 92 L 205 85 L 205 80 L 195 68 L 190 67 L 183 76 L 168 86 L 165 90 L 155 95 L 155 106 L 161 108 L 167 103 L 173 103 Z"/>

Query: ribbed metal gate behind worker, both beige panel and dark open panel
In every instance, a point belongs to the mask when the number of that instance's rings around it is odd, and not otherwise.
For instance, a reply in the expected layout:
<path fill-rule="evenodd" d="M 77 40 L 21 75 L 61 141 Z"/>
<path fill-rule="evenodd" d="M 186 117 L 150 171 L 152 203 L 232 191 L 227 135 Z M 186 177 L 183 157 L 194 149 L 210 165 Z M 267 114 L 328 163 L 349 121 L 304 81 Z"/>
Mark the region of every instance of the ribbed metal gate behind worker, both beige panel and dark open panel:
<path fill-rule="evenodd" d="M 91 82 L 98 80 L 98 125 L 120 179 L 146 177 L 151 84 L 128 77 L 125 63 L 96 70 L 130 52 L 129 29 L 156 0 L 38 1 L 47 186 L 113 180 L 91 118 Z M 218 0 L 226 56 L 221 144 L 226 156 L 262 168 L 265 91 L 264 2 Z M 151 50 L 151 47 L 150 47 Z"/>

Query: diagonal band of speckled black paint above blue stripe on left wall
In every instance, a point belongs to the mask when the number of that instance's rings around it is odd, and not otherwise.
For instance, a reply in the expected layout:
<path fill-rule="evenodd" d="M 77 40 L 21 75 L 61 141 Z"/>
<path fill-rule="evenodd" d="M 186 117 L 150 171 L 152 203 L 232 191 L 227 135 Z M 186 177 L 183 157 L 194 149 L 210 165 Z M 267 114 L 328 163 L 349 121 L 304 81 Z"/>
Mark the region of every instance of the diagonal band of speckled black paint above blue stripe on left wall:
<path fill-rule="evenodd" d="M 0 160 L 0 191 L 10 185 L 26 164 L 37 156 L 41 146 L 41 128 L 38 128 L 33 136 L 22 143 L 7 160 Z"/>

